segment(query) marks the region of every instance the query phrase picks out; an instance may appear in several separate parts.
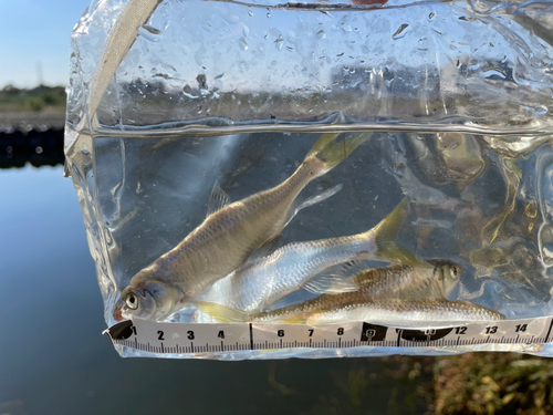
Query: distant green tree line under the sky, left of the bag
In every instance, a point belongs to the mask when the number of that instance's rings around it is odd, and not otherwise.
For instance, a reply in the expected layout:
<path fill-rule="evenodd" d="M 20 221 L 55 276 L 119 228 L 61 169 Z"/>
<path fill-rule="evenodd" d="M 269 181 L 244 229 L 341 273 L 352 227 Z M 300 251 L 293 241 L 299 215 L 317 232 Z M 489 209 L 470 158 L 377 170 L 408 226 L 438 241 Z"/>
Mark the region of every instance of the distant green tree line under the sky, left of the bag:
<path fill-rule="evenodd" d="M 0 112 L 65 111 L 65 87 L 39 85 L 31 90 L 11 84 L 0 90 Z"/>

